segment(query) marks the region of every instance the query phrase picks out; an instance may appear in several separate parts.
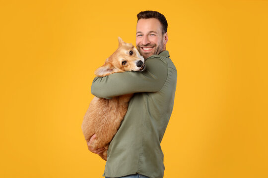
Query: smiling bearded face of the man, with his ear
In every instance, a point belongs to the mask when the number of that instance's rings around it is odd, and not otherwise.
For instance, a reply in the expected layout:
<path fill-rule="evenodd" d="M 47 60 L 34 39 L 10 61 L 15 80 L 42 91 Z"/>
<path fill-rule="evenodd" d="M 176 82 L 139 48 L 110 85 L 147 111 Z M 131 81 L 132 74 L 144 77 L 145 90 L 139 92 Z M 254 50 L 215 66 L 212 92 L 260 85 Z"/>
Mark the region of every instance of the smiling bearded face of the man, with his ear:
<path fill-rule="evenodd" d="M 162 35 L 162 26 L 158 19 L 138 20 L 136 26 L 136 47 L 144 59 L 166 50 L 167 41 L 167 33 Z"/>

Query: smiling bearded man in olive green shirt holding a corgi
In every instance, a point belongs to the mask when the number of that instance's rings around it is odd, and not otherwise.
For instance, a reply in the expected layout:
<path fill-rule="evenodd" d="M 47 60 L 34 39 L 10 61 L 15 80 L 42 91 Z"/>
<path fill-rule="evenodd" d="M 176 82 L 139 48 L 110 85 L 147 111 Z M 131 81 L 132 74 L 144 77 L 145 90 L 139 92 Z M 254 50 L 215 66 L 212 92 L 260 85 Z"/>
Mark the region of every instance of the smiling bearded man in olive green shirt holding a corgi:
<path fill-rule="evenodd" d="M 108 149 L 106 178 L 163 178 L 160 142 L 173 109 L 177 71 L 166 51 L 167 21 L 156 11 L 137 14 L 136 47 L 145 59 L 143 72 L 96 77 L 91 92 L 100 98 L 135 93 Z M 88 149 L 101 153 L 104 149 Z"/>

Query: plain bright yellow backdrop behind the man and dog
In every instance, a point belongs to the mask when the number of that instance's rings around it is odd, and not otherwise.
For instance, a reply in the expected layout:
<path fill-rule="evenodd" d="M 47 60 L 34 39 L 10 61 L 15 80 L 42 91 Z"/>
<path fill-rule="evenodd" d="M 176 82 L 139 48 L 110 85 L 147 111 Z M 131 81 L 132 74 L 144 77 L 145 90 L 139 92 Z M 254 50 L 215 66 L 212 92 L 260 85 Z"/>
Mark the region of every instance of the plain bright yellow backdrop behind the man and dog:
<path fill-rule="evenodd" d="M 164 177 L 268 177 L 267 0 L 0 0 L 1 178 L 102 178 L 80 126 L 143 10 L 166 16 L 178 71 Z"/>

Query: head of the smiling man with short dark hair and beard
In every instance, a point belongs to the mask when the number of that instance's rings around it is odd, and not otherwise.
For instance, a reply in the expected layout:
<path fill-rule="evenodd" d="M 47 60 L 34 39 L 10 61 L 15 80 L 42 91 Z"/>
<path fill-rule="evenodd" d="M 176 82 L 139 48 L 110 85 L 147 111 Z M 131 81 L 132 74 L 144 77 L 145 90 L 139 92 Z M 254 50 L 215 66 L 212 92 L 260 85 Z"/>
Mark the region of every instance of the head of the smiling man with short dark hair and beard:
<path fill-rule="evenodd" d="M 136 47 L 146 59 L 166 50 L 168 41 L 167 20 L 156 11 L 142 11 L 137 14 Z"/>

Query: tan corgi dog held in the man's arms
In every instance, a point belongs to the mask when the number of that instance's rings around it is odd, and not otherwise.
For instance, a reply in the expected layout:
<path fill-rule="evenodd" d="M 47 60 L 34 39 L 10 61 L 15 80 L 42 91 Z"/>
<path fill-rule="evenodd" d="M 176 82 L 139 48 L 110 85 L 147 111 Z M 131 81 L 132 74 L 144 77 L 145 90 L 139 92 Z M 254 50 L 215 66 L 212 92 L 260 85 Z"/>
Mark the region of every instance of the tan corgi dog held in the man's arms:
<path fill-rule="evenodd" d="M 125 71 L 143 71 L 145 69 L 144 58 L 132 44 L 125 43 L 118 37 L 117 50 L 106 59 L 105 64 L 95 71 L 99 77 Z M 120 127 L 121 121 L 127 113 L 128 105 L 133 93 L 116 96 L 112 99 L 94 97 L 89 104 L 82 122 L 82 132 L 86 141 L 96 134 L 91 144 L 92 148 L 105 150 L 99 154 L 107 161 L 109 143 Z"/>

